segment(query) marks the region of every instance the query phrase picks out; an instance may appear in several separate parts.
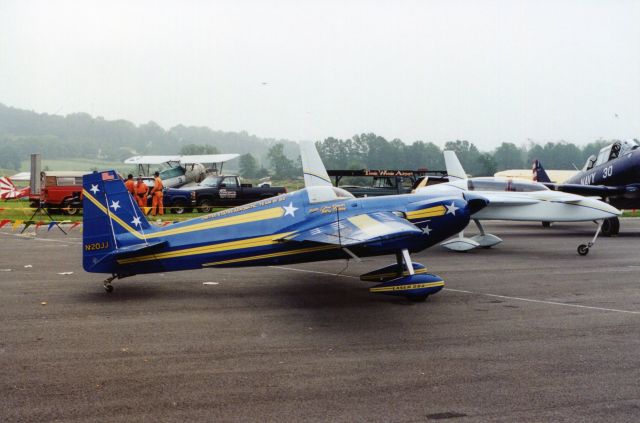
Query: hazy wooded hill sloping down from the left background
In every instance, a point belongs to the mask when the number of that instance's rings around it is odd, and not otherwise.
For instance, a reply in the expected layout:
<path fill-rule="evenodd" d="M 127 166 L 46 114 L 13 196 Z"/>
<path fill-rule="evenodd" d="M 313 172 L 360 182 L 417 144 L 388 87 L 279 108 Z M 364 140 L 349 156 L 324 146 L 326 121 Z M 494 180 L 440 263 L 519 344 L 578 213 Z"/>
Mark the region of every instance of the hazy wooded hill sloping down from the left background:
<path fill-rule="evenodd" d="M 87 113 L 50 115 L 0 103 L 0 156 L 5 162 L 11 162 L 14 155 L 19 162 L 32 153 L 40 153 L 46 159 L 121 162 L 134 154 L 176 154 L 183 145 L 200 144 L 215 146 L 221 153 L 251 153 L 266 165 L 267 151 L 275 143 L 283 143 L 285 154 L 291 159 L 298 157 L 298 146 L 292 141 L 260 138 L 245 131 L 223 132 L 184 125 L 166 130 L 155 122 L 135 125 Z M 11 166 L 0 163 L 0 167 Z"/>

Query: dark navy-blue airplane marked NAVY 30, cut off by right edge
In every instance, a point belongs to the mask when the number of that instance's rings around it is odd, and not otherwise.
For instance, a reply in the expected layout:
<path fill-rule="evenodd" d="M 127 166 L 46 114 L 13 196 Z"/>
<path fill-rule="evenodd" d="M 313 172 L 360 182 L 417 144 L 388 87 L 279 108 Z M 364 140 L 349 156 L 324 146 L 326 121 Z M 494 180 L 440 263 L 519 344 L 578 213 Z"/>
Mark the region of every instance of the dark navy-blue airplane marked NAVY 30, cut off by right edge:
<path fill-rule="evenodd" d="M 538 160 L 533 163 L 533 176 L 555 191 L 598 196 L 619 209 L 640 208 L 640 144 L 636 140 L 603 147 L 597 157 L 589 157 L 581 171 L 561 184 L 551 183 Z M 602 231 L 616 235 L 620 231 L 618 218 L 607 219 Z"/>

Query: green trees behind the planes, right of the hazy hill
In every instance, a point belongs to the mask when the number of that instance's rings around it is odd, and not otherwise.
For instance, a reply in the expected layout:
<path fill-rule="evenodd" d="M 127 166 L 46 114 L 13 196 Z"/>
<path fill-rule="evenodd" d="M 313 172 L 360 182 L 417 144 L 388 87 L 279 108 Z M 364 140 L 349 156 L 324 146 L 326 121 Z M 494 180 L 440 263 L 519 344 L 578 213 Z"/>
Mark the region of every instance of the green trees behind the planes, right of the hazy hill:
<path fill-rule="evenodd" d="M 531 168 L 535 159 L 541 160 L 548 169 L 582 168 L 589 156 L 597 154 L 602 147 L 613 141 L 615 140 L 597 140 L 582 147 L 565 141 L 520 146 L 503 142 L 490 152 L 482 152 L 466 140 L 448 141 L 441 149 L 432 142 L 415 141 L 406 144 L 399 139 L 388 141 L 379 135 L 368 133 L 348 139 L 329 137 L 317 141 L 316 146 L 327 169 L 445 170 L 442 152 L 453 150 L 467 173 L 491 176 L 501 170 Z M 279 144 L 269 149 L 267 158 L 269 171 L 276 179 L 292 179 L 302 174 L 299 158 L 294 161 L 286 157 Z M 251 154 L 242 156 L 241 175 L 253 178 L 256 171 Z M 263 169 L 262 173 L 265 171 Z"/>

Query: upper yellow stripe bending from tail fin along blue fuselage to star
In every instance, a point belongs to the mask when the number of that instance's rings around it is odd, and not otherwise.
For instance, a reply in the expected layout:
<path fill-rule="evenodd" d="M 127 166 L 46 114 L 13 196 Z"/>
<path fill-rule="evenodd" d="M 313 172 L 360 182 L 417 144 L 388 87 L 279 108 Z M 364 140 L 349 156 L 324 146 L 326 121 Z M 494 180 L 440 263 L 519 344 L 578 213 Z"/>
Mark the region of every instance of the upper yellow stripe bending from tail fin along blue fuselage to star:
<path fill-rule="evenodd" d="M 259 222 L 261 220 L 277 219 L 279 217 L 284 216 L 284 209 L 282 207 L 271 207 L 265 210 L 239 214 L 231 217 L 224 217 L 221 219 L 207 220 L 204 222 L 195 223 L 193 225 L 185 225 L 178 228 L 167 228 L 157 232 L 152 232 L 149 234 L 142 235 L 140 232 L 138 232 L 137 230 L 132 228 L 129 224 L 127 224 L 122 219 L 120 219 L 115 213 L 109 212 L 109 210 L 107 210 L 105 206 L 103 206 L 98 200 L 96 200 L 86 190 L 83 190 L 82 194 L 86 198 L 88 198 L 104 214 L 109 216 L 113 221 L 118 223 L 120 226 L 122 226 L 124 229 L 126 229 L 128 232 L 130 232 L 133 236 L 135 236 L 138 239 L 150 239 L 150 238 L 159 238 L 159 237 L 165 237 L 165 236 L 171 236 L 171 235 L 179 235 L 179 234 L 184 234 L 189 232 L 203 231 L 206 229 L 239 225 L 241 223 L 252 223 L 252 222 Z"/>

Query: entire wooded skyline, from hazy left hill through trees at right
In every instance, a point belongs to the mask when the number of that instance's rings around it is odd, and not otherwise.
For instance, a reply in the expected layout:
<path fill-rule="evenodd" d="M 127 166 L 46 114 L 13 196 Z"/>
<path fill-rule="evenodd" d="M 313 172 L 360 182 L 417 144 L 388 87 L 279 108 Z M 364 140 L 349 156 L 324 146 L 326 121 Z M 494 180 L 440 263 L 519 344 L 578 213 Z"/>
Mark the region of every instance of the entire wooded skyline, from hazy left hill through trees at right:
<path fill-rule="evenodd" d="M 443 170 L 442 150 L 454 150 L 465 170 L 476 176 L 504 169 L 531 167 L 539 159 L 549 169 L 581 168 L 587 157 L 614 140 L 595 140 L 584 146 L 558 141 L 545 144 L 503 142 L 492 151 L 480 151 L 467 140 L 452 140 L 443 148 L 427 141 L 411 144 L 387 140 L 373 133 L 347 139 L 334 137 L 316 145 L 328 169 L 430 169 Z M 35 113 L 0 104 L 0 168 L 18 169 L 32 153 L 48 159 L 93 158 L 122 161 L 137 154 L 240 153 L 242 176 L 255 179 L 294 179 L 302 175 L 297 144 L 259 138 L 247 132 L 222 132 L 207 127 L 177 125 L 165 130 L 154 122 L 134 125 L 126 120 L 106 120 L 86 113 L 66 116 Z"/>

